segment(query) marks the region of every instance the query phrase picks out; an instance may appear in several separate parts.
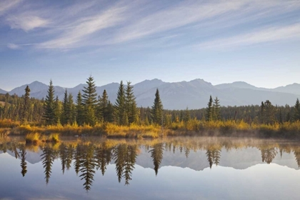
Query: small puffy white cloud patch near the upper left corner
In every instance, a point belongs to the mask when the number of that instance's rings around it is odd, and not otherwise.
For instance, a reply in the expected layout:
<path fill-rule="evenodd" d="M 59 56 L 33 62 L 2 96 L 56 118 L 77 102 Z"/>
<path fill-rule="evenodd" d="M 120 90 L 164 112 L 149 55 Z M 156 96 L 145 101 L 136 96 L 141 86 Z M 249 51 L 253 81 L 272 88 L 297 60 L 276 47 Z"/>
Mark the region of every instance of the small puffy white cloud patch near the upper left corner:
<path fill-rule="evenodd" d="M 23 29 L 24 31 L 30 31 L 39 27 L 45 27 L 47 24 L 49 24 L 48 20 L 30 14 L 8 16 L 6 18 L 6 21 L 9 22 L 11 29 Z"/>

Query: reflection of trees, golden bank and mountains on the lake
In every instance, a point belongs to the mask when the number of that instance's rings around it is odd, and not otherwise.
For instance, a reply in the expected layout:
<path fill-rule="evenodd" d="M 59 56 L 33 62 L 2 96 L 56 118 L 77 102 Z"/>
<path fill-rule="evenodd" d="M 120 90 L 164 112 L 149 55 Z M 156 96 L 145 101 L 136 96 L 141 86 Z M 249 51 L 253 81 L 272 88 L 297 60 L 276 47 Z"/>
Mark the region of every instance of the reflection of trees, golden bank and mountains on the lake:
<path fill-rule="evenodd" d="M 104 140 L 87 138 L 63 140 L 58 144 L 41 144 L 40 146 L 26 145 L 21 138 L 0 138 L 0 151 L 8 152 L 21 161 L 21 175 L 26 176 L 28 155 L 38 154 L 39 161 L 44 168 L 46 184 L 51 182 L 52 166 L 56 159 L 61 164 L 61 174 L 74 170 L 82 181 L 86 191 L 92 188 L 94 176 L 106 173 L 109 164 L 115 164 L 116 178 L 119 182 L 124 180 L 129 185 L 135 164 L 144 161 L 144 166 L 154 169 L 158 176 L 161 165 L 189 167 L 189 164 L 201 166 L 202 170 L 213 166 L 232 166 L 231 161 L 239 159 L 229 157 L 230 151 L 240 152 L 243 149 L 254 149 L 261 156 L 260 163 L 271 164 L 282 154 L 294 156 L 296 166 L 300 167 L 300 144 L 291 141 L 271 141 L 262 139 L 228 139 L 228 138 L 174 138 L 166 140 Z M 248 150 L 247 150 L 248 151 Z M 1 153 L 1 152 L 0 152 Z M 277 156 L 277 154 L 279 154 Z M 174 155 L 171 156 L 170 155 Z M 224 158 L 222 156 L 227 157 Z M 234 154 L 236 155 L 236 154 Z M 166 156 L 166 157 L 165 157 Z M 247 154 L 246 154 L 247 156 Z M 277 157 L 276 157 L 277 156 Z M 177 158 L 183 157 L 180 161 Z M 251 162 L 249 156 L 249 162 Z M 140 158 L 140 160 L 139 160 Z M 222 164 L 227 159 L 229 164 Z M 245 156 L 241 156 L 246 160 Z M 150 162 L 148 162 L 150 161 Z M 258 162 L 258 163 L 259 163 Z M 182 164 L 185 163 L 184 166 Z M 242 163 L 242 161 L 241 161 Z M 146 167 L 145 166 L 145 167 Z M 98 172 L 99 171 L 99 172 Z"/>

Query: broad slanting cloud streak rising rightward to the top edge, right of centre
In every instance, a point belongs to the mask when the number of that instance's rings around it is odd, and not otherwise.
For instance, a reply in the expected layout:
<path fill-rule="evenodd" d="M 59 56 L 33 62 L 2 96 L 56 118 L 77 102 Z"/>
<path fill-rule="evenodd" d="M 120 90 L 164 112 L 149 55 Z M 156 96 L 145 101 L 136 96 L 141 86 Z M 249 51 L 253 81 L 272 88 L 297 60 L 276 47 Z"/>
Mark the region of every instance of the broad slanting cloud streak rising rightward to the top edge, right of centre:
<path fill-rule="evenodd" d="M 242 1 L 221 1 L 213 4 L 185 1 L 169 9 L 149 14 L 149 16 L 142 17 L 133 24 L 124 27 L 114 38 L 114 43 L 140 39 L 144 36 L 210 19 L 235 11 L 242 5 L 244 5 Z"/>

